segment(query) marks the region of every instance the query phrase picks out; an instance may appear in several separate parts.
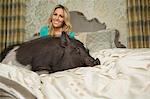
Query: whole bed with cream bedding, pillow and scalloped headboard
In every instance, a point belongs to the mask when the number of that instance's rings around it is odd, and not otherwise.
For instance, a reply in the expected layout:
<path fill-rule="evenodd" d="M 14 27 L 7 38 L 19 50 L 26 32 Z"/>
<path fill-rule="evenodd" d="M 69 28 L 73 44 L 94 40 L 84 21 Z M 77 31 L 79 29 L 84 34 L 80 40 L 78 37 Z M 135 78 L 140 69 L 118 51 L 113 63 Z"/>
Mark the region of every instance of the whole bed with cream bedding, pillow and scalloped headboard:
<path fill-rule="evenodd" d="M 101 65 L 38 75 L 17 65 L 12 50 L 7 59 L 0 63 L 0 97 L 149 99 L 150 49 L 126 48 L 119 41 L 118 30 L 107 29 L 104 23 L 95 18 L 87 20 L 81 12 L 71 12 L 71 18 L 76 38 L 89 48 L 93 57 L 100 59 Z M 75 23 L 77 20 L 81 23 Z"/>

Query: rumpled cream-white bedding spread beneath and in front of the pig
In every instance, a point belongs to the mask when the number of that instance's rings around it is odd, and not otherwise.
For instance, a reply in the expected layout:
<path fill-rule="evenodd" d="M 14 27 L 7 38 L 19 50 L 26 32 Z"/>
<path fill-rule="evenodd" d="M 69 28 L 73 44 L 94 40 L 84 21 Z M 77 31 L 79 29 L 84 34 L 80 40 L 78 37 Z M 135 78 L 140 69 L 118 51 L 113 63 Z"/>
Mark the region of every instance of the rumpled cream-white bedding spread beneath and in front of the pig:
<path fill-rule="evenodd" d="M 104 49 L 91 53 L 101 65 L 53 74 L 0 64 L 0 76 L 38 99 L 150 99 L 150 49 Z"/>

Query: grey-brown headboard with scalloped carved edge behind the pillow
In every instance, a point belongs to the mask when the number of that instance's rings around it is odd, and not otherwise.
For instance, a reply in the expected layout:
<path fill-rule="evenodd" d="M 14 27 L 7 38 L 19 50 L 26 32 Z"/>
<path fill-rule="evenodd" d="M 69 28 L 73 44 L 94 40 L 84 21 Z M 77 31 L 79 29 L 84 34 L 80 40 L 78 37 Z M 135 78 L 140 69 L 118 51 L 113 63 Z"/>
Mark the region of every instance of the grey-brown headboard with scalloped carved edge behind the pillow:
<path fill-rule="evenodd" d="M 95 32 L 99 30 L 105 30 L 105 23 L 99 22 L 98 19 L 93 18 L 88 20 L 83 13 L 79 11 L 70 11 L 72 31 L 74 32 Z M 125 45 L 119 41 L 119 31 L 116 30 L 114 43 L 117 48 L 126 48 Z"/>

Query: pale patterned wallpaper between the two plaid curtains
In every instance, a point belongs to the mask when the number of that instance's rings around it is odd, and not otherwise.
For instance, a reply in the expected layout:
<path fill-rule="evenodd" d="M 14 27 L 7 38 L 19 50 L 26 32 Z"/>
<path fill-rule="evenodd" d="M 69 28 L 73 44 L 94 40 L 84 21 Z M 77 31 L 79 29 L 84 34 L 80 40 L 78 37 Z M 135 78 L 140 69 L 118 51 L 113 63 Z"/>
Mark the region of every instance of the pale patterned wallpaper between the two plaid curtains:
<path fill-rule="evenodd" d="M 97 18 L 107 28 L 118 29 L 121 33 L 120 40 L 126 45 L 126 0 L 27 0 L 26 38 L 47 23 L 51 9 L 57 4 L 67 6 L 70 11 L 84 13 L 89 20 Z"/>

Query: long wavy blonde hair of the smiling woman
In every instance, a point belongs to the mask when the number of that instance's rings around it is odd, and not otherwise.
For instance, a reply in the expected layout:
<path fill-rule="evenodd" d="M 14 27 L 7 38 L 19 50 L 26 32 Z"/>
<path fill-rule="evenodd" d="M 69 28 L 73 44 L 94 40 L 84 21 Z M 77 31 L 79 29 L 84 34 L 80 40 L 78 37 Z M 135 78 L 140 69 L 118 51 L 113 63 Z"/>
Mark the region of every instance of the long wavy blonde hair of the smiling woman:
<path fill-rule="evenodd" d="M 54 27 L 52 26 L 52 16 L 53 16 L 55 10 L 58 9 L 58 8 L 61 8 L 61 9 L 63 9 L 63 11 L 64 11 L 64 24 L 63 24 L 63 26 L 62 26 L 62 31 L 68 33 L 68 32 L 70 32 L 71 29 L 72 29 L 72 25 L 71 25 L 71 23 L 70 23 L 70 13 L 69 13 L 68 8 L 66 8 L 66 7 L 63 6 L 63 5 L 56 5 L 55 8 L 52 10 L 52 13 L 51 13 L 51 15 L 50 15 L 50 17 L 49 17 L 49 20 L 48 20 L 49 35 L 51 35 L 51 36 L 54 36 L 54 35 L 55 35 L 54 32 L 53 32 Z"/>

